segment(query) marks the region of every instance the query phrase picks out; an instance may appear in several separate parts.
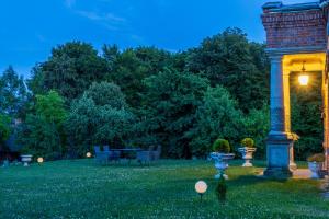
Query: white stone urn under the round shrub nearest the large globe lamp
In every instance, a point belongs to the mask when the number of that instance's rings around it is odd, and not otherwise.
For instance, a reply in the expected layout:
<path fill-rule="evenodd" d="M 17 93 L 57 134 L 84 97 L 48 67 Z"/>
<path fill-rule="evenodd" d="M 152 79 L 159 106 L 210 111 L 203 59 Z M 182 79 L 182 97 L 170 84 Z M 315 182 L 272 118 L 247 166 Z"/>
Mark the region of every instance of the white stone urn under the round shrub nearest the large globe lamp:
<path fill-rule="evenodd" d="M 217 174 L 215 175 L 215 178 L 220 178 L 220 175 L 223 175 L 226 180 L 228 180 L 228 176 L 225 174 L 225 170 L 228 168 L 228 161 L 234 159 L 234 153 L 219 153 L 219 152 L 212 152 L 211 159 L 215 161 L 215 168 L 217 170 Z"/>

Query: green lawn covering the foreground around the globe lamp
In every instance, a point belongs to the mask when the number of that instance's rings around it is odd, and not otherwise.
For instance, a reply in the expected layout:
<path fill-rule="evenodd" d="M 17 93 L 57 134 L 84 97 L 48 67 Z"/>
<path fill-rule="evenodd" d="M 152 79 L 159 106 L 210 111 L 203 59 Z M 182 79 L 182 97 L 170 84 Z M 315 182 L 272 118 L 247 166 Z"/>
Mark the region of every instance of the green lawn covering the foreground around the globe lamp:
<path fill-rule="evenodd" d="M 256 176 L 261 168 L 239 165 L 228 170 L 225 205 L 215 197 L 209 161 L 140 168 L 78 160 L 0 169 L 0 218 L 329 218 L 320 182 L 264 180 Z M 208 184 L 203 203 L 197 180 Z"/>

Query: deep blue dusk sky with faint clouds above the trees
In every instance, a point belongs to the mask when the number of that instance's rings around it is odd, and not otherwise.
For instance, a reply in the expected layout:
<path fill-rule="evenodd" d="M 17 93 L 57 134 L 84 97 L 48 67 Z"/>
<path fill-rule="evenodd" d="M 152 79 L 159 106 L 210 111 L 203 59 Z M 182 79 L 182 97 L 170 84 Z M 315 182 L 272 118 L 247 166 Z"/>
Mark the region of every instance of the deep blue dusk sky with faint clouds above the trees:
<path fill-rule="evenodd" d="M 121 48 L 157 46 L 178 51 L 226 27 L 264 42 L 261 7 L 266 0 L 1 0 L 0 73 L 12 65 L 29 77 L 52 47 L 69 41 Z M 286 0 L 284 3 L 306 2 Z"/>

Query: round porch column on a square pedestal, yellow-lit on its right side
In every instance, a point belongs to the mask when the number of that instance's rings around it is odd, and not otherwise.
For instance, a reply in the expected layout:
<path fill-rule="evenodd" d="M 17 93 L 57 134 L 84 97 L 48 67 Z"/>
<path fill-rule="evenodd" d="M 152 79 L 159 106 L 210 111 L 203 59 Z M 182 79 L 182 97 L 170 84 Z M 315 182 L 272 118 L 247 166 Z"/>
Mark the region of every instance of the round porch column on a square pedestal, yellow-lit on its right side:
<path fill-rule="evenodd" d="M 290 177 L 293 139 L 290 132 L 288 77 L 283 72 L 283 56 L 271 59 L 271 130 L 268 138 L 265 176 Z"/>

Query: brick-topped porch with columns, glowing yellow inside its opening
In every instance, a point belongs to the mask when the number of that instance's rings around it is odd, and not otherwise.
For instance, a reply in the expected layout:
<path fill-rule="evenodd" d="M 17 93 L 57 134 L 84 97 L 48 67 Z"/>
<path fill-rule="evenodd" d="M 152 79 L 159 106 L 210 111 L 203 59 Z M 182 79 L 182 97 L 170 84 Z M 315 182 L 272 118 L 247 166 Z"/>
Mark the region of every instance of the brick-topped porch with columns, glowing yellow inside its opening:
<path fill-rule="evenodd" d="M 266 176 L 291 176 L 294 135 L 291 132 L 290 74 L 311 71 L 322 74 L 324 152 L 329 170 L 328 36 L 329 0 L 285 5 L 263 5 L 266 51 L 271 59 L 271 131 L 268 138 Z M 302 70 L 303 69 L 303 70 Z M 307 78 L 306 78 L 307 80 Z"/>

